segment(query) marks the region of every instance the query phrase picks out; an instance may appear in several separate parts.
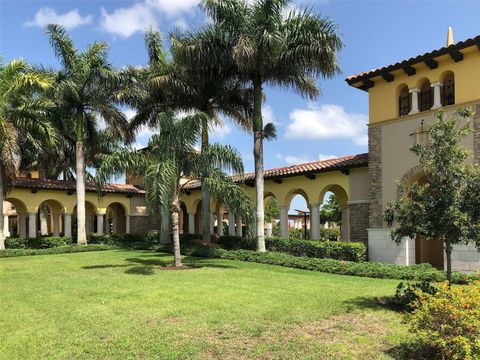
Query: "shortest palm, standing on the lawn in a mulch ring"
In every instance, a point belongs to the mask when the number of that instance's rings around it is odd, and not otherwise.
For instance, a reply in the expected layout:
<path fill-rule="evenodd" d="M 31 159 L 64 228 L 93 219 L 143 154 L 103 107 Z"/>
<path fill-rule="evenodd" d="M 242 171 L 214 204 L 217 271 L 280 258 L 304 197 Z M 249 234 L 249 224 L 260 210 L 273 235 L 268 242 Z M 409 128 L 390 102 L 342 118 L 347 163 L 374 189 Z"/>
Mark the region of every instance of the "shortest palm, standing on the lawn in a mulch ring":
<path fill-rule="evenodd" d="M 146 200 L 153 216 L 159 216 L 166 205 L 171 212 L 175 266 L 182 266 L 178 218 L 180 193 L 192 181 L 202 183 L 220 201 L 238 212 L 247 221 L 252 220 L 252 206 L 248 195 L 223 171 L 242 175 L 240 154 L 230 146 L 211 144 L 204 152 L 195 149 L 207 115 L 197 113 L 178 118 L 173 111 L 157 116 L 158 133 L 146 149 L 122 149 L 105 156 L 97 170 L 100 182 L 114 173 L 128 171 L 144 176 Z M 223 170 L 222 170 L 223 169 Z M 181 182 L 182 178 L 188 178 Z"/>

